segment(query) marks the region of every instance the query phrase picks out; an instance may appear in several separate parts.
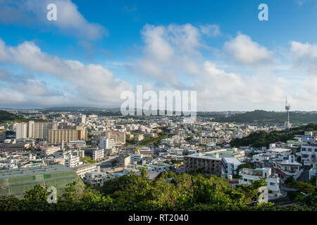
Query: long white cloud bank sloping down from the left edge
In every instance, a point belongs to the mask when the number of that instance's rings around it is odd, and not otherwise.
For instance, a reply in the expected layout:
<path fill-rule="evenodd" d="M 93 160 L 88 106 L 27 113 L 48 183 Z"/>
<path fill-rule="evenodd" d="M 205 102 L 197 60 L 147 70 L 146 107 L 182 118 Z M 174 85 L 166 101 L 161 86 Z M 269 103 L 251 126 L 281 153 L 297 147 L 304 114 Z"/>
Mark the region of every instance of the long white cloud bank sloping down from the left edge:
<path fill-rule="evenodd" d="M 35 73 L 42 73 L 56 77 L 56 79 L 72 84 L 72 92 L 62 90 L 54 91 L 47 88 L 47 84 L 32 77 L 28 77 L 24 82 L 19 82 L 17 77 L 7 76 L 6 81 L 15 79 L 15 85 L 27 86 L 29 89 L 18 89 L 26 96 L 55 96 L 54 100 L 60 104 L 77 103 L 85 105 L 108 106 L 118 105 L 122 91 L 130 89 L 130 85 L 122 79 L 116 79 L 113 73 L 101 65 L 85 65 L 77 60 L 66 60 L 51 56 L 41 51 L 39 46 L 30 41 L 25 41 L 18 46 L 6 46 L 2 43 L 2 51 L 6 57 L 1 58 L 7 63 L 19 65 L 24 70 Z M 4 75 L 2 75 L 4 76 Z M 14 87 L 13 87 L 14 88 Z M 68 87 L 69 88 L 69 87 Z M 66 99 L 63 99 L 66 98 Z M 58 101 L 57 101 L 58 100 Z M 42 101 L 46 101 L 45 98 Z"/>

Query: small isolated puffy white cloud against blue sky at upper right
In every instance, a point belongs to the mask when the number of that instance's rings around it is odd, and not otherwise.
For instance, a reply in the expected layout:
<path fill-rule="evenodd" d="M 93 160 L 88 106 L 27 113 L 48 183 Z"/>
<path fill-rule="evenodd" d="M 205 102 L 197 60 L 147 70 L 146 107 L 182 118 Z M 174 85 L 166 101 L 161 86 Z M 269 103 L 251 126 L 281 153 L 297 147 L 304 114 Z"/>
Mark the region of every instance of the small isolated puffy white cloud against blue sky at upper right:
<path fill-rule="evenodd" d="M 223 49 L 229 58 L 244 65 L 261 65 L 273 59 L 272 51 L 245 34 L 237 34 L 235 39 L 225 42 Z"/>

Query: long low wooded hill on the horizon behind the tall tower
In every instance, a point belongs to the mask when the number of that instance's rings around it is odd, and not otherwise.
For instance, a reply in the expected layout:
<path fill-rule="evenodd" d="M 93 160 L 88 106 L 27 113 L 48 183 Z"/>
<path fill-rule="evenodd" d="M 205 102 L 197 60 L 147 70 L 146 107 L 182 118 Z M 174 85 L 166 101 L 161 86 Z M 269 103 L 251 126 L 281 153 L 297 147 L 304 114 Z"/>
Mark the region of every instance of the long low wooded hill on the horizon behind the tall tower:
<path fill-rule="evenodd" d="M 259 123 L 259 124 L 282 124 L 287 120 L 286 113 L 268 112 L 264 110 L 254 110 L 252 112 L 230 115 L 228 117 L 216 117 L 216 122 L 237 122 L 237 123 Z M 317 113 L 293 113 L 290 112 L 291 123 L 315 123 Z"/>

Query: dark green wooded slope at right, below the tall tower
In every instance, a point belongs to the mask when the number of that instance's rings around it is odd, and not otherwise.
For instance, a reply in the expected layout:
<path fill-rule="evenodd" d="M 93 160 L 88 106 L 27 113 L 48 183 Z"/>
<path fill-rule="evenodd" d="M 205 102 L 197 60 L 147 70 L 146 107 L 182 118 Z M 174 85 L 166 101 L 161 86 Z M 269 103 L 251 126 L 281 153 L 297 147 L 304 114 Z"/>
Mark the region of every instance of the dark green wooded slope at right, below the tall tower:
<path fill-rule="evenodd" d="M 240 147 L 240 146 L 252 146 L 252 147 L 263 147 L 270 145 L 270 143 L 275 143 L 278 141 L 286 142 L 294 139 L 296 134 L 304 134 L 304 131 L 317 130 L 317 124 L 307 124 L 299 127 L 294 127 L 288 131 L 287 129 L 282 131 L 259 131 L 249 134 L 242 139 L 233 139 L 230 141 L 230 146 Z"/>

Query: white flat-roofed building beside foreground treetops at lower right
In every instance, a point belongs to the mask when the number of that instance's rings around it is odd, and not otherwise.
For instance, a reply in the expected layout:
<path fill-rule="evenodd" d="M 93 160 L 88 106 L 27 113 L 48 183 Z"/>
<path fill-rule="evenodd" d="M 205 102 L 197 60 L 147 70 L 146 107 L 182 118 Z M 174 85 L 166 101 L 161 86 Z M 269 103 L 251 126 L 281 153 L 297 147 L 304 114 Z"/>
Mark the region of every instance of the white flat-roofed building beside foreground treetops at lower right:
<path fill-rule="evenodd" d="M 282 195 L 280 193 L 280 178 L 278 174 L 273 174 L 271 168 L 256 168 L 240 169 L 239 175 L 242 178 L 239 179 L 239 184 L 251 184 L 252 181 L 256 181 L 262 178 L 266 178 L 266 187 L 268 188 L 268 198 L 275 198 Z"/>

